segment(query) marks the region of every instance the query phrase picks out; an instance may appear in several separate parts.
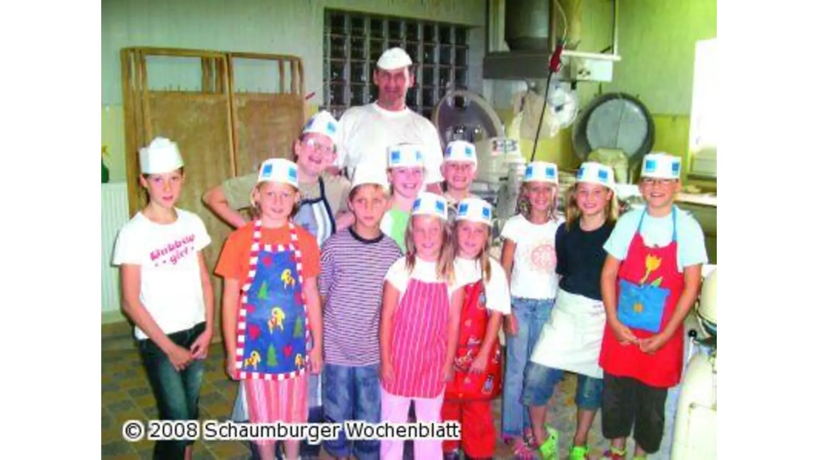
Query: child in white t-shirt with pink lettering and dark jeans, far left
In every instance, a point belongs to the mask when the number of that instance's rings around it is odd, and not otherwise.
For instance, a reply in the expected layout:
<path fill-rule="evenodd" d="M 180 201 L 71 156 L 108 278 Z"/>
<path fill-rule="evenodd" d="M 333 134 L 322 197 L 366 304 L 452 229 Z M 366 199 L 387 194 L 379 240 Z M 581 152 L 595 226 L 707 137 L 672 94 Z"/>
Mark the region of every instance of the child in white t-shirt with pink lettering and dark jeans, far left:
<path fill-rule="evenodd" d="M 213 336 L 213 288 L 202 250 L 210 244 L 196 214 L 173 205 L 184 181 L 178 147 L 156 138 L 139 151 L 149 202 L 119 231 L 123 311 L 136 325 L 139 354 L 162 420 L 196 420 Z M 159 441 L 155 458 L 193 457 L 192 440 Z"/>

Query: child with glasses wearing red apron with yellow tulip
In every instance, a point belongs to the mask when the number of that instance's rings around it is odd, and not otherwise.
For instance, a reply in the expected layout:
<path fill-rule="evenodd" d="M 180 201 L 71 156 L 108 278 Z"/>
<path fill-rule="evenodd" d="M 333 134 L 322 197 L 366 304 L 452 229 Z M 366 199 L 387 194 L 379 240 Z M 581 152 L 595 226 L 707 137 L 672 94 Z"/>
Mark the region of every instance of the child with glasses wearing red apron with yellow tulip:
<path fill-rule="evenodd" d="M 698 296 L 707 253 L 699 223 L 673 205 L 680 171 L 676 156 L 645 156 L 639 186 L 645 210 L 623 215 L 605 243 L 600 367 L 602 433 L 612 440 L 607 458 L 624 460 L 631 429 L 634 460 L 658 451 L 667 389 L 681 378 L 682 323 Z"/>

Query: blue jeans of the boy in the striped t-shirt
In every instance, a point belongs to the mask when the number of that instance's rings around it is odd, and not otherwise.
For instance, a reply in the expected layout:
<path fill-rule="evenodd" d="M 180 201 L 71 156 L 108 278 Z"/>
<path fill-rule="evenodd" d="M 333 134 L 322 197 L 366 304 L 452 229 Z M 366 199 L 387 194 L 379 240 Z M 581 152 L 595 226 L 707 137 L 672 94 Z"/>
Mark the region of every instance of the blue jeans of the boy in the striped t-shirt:
<path fill-rule="evenodd" d="M 346 420 L 380 422 L 380 365 L 351 367 L 324 364 L 324 417 L 327 423 Z M 354 456 L 366 460 L 380 455 L 378 440 L 347 440 L 343 430 L 337 440 L 325 440 L 333 457 Z"/>

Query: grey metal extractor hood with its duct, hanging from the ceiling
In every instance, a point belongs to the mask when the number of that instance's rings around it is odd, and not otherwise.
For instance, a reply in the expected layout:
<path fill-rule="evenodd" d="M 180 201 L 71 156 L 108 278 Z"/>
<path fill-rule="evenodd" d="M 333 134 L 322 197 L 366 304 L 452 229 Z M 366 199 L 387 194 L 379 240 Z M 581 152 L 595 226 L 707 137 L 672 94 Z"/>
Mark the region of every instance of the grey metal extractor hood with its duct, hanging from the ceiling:
<path fill-rule="evenodd" d="M 582 0 L 568 0 L 561 5 L 578 3 Z M 557 31 L 563 34 L 568 28 L 564 11 L 551 0 L 505 0 L 489 2 L 489 20 L 493 21 L 495 32 L 503 29 L 503 38 L 510 51 L 492 52 L 483 58 L 483 79 L 526 80 L 546 79 L 551 54 L 556 47 Z M 613 63 L 620 61 L 618 55 L 618 0 L 612 0 L 612 43 L 610 52 L 580 52 L 567 47 L 562 52 L 563 66 L 554 76 L 562 81 L 611 81 Z M 505 5 L 503 5 L 505 4 Z M 564 10 L 565 7 L 563 6 Z M 561 22 L 555 20 L 561 16 Z M 560 25 L 559 28 L 557 25 Z M 490 26 L 489 29 L 492 29 Z M 491 30 L 490 30 L 491 33 Z M 495 38 L 494 47 L 499 43 Z M 570 41 L 570 40 L 569 40 Z M 492 40 L 488 40 L 492 47 Z"/>

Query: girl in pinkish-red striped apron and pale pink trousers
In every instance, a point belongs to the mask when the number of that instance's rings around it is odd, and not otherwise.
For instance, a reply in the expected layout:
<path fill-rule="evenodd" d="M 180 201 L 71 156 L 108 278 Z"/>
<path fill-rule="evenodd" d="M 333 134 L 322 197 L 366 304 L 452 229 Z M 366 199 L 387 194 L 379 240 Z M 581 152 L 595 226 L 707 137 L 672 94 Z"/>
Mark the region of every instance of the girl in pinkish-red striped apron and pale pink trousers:
<path fill-rule="evenodd" d="M 407 225 L 407 255 L 386 273 L 380 317 L 382 422 L 407 422 L 412 402 L 418 422 L 440 422 L 463 302 L 463 290 L 454 284 L 446 217 L 443 196 L 421 192 Z M 415 458 L 442 457 L 440 440 L 415 441 Z M 403 441 L 381 440 L 380 458 L 402 460 Z"/>

